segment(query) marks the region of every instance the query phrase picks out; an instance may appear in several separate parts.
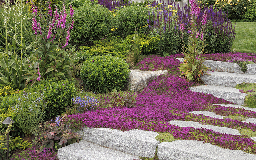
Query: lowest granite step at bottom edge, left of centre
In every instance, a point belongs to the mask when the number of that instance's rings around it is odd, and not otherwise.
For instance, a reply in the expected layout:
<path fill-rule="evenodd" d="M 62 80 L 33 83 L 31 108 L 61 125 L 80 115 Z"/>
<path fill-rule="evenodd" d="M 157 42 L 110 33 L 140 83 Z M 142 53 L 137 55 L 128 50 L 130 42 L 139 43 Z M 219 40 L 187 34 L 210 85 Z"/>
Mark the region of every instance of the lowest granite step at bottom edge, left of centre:
<path fill-rule="evenodd" d="M 108 147 L 81 140 L 58 149 L 59 160 L 134 160 L 134 156 Z"/>

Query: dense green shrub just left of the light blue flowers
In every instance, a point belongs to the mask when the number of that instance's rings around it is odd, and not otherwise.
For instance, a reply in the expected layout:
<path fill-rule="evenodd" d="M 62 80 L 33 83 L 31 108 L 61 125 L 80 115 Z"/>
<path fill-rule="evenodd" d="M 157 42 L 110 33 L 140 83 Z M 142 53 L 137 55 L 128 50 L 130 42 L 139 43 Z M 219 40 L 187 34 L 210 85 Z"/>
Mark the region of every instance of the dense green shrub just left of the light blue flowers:
<path fill-rule="evenodd" d="M 68 106 L 72 105 L 72 98 L 78 94 L 76 84 L 68 79 L 55 81 L 53 78 L 41 80 L 34 90 L 43 91 L 44 101 L 49 105 L 45 108 L 46 119 L 61 115 Z"/>

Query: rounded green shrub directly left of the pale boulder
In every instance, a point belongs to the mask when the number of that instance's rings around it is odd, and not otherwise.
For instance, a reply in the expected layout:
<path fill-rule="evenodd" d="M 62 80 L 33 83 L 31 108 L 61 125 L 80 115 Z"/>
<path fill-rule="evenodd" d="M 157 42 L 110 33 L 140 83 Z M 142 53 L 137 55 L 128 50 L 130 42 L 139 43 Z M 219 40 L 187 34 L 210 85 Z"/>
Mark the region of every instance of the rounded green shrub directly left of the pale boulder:
<path fill-rule="evenodd" d="M 89 57 L 80 71 L 85 87 L 92 92 L 122 90 L 127 83 L 130 69 L 124 60 L 111 55 Z"/>

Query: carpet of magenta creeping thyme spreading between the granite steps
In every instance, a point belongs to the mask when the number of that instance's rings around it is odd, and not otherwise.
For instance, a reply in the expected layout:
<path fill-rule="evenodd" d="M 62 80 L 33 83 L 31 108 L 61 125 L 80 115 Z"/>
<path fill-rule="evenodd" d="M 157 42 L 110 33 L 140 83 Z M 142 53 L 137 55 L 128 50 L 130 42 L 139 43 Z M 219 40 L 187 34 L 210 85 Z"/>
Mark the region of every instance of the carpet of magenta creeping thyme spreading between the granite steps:
<path fill-rule="evenodd" d="M 178 78 L 180 74 L 178 69 L 180 62 L 176 59 L 178 56 L 180 55 L 169 57 L 152 55 L 137 64 L 137 68 L 141 70 L 168 69 L 168 74 L 149 82 L 146 88 L 137 93 L 137 108 L 118 106 L 69 115 L 66 120 L 71 124 L 70 127 L 76 130 L 87 126 L 122 131 L 141 129 L 166 132 L 173 134 L 174 138 L 177 139 L 199 140 L 222 148 L 243 150 L 256 154 L 256 142 L 250 139 L 248 135 L 221 134 L 209 129 L 194 129 L 193 127 L 178 127 L 168 124 L 168 121 L 171 120 L 188 120 L 202 124 L 256 131 L 256 125 L 252 123 L 189 113 L 191 111 L 210 111 L 223 116 L 232 115 L 250 118 L 256 116 L 256 112 L 243 108 L 212 105 L 232 103 L 209 94 L 190 91 L 189 87 L 196 84 L 187 82 L 184 77 Z"/>

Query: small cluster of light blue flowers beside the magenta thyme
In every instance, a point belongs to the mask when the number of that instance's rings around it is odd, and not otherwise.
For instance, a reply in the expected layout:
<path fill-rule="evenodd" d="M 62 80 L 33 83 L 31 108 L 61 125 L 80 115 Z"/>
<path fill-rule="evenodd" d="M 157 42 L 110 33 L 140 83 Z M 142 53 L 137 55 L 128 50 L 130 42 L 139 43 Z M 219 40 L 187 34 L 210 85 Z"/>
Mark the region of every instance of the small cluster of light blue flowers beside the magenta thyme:
<path fill-rule="evenodd" d="M 79 96 L 72 98 L 75 105 L 78 105 L 77 109 L 80 111 L 92 110 L 97 107 L 97 100 L 93 99 L 92 96 L 86 96 L 85 98 L 80 98 Z"/>

